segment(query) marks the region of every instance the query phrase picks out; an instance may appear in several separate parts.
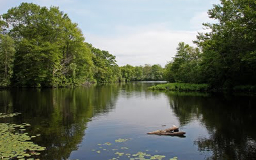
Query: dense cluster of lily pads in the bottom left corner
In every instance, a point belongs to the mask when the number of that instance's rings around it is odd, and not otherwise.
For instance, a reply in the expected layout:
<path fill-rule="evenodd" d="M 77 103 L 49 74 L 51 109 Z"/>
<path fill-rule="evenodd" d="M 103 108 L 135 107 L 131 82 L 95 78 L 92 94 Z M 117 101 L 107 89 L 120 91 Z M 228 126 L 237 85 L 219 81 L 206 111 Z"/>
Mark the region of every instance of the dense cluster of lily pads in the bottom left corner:
<path fill-rule="evenodd" d="M 0 113 L 0 118 L 12 117 L 20 113 L 3 114 Z M 28 136 L 25 127 L 30 124 L 0 124 L 0 159 L 19 159 L 33 160 L 35 156 L 40 155 L 38 151 L 45 150 L 45 147 L 40 147 L 34 144 L 31 138 L 40 136 Z"/>

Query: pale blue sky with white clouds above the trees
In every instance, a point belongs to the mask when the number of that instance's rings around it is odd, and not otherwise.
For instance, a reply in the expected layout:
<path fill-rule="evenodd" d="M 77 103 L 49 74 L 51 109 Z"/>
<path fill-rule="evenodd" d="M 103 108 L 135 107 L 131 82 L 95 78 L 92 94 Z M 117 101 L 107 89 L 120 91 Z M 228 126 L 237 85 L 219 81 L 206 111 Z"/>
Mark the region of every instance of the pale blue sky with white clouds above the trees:
<path fill-rule="evenodd" d="M 0 14 L 22 2 L 59 6 L 79 24 L 86 42 L 116 56 L 118 65 L 159 64 L 179 42 L 194 45 L 207 10 L 218 0 L 0 0 Z"/>

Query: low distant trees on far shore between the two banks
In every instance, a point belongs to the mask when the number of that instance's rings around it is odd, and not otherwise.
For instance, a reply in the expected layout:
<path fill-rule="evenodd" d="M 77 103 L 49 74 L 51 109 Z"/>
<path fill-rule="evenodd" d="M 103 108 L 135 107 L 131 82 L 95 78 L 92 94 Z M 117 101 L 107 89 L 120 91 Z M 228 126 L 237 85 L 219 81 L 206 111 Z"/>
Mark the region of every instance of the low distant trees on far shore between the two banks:
<path fill-rule="evenodd" d="M 120 67 L 123 81 L 163 81 L 164 69 L 161 65 L 145 65 Z"/>

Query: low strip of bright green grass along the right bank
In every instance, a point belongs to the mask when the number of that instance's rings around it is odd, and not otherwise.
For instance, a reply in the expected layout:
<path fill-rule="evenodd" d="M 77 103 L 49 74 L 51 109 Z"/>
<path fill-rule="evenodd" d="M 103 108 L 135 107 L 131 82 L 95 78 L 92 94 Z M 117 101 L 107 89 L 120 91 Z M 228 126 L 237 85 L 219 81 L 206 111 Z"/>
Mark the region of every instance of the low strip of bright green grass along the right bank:
<path fill-rule="evenodd" d="M 208 84 L 189 84 L 189 83 L 166 83 L 150 86 L 150 90 L 174 90 L 174 91 L 196 91 L 205 92 L 209 90 Z"/>

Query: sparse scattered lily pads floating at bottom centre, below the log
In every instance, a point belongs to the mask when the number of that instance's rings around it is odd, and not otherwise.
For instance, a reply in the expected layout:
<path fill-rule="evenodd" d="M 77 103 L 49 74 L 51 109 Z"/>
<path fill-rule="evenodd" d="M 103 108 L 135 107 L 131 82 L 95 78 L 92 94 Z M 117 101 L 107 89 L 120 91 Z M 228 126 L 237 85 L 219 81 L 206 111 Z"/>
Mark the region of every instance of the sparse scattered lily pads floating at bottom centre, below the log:
<path fill-rule="evenodd" d="M 128 141 L 128 140 L 131 140 L 131 139 L 122 139 L 122 138 L 119 138 L 118 140 L 115 140 L 116 143 L 122 143 L 122 142 L 125 142 L 125 141 Z M 110 142 L 107 142 L 107 143 L 103 143 L 103 144 L 98 144 L 99 145 L 99 148 L 102 149 L 102 150 L 107 150 L 106 148 L 103 148 L 102 146 L 104 145 L 112 145 Z M 145 150 L 146 152 L 137 152 L 136 154 L 130 154 L 130 153 L 125 153 L 125 152 L 121 152 L 121 151 L 124 151 L 124 150 L 129 150 L 129 148 L 127 147 L 120 147 L 119 149 L 112 149 L 113 151 L 115 150 L 119 150 L 119 152 L 115 152 L 115 155 L 116 157 L 113 157 L 112 159 L 109 159 L 109 160 L 118 160 L 118 159 L 124 159 L 123 157 L 125 157 L 125 159 L 129 159 L 129 160 L 163 160 L 163 159 L 166 159 L 166 156 L 163 156 L 163 155 L 158 155 L 158 154 L 154 154 L 154 155 L 151 155 L 151 154 L 148 154 L 147 152 L 149 150 Z M 93 152 L 96 152 L 97 154 L 100 154 L 102 151 L 101 150 L 92 150 Z M 158 152 L 158 150 L 155 150 L 155 152 Z M 169 158 L 169 160 L 177 160 L 178 157 L 172 157 L 172 158 Z"/>

